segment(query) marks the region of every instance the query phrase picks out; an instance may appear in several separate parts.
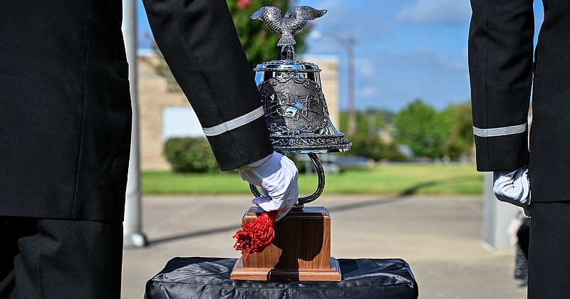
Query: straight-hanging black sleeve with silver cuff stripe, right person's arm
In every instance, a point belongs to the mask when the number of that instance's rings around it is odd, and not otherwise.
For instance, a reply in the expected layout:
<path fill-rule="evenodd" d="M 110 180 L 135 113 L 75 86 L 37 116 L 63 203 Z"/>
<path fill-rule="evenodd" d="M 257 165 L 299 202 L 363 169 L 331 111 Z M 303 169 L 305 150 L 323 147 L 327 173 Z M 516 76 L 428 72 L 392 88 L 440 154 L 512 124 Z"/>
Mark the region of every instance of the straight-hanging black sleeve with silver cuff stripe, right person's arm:
<path fill-rule="evenodd" d="M 528 163 L 532 0 L 472 0 L 469 72 L 477 170 Z"/>

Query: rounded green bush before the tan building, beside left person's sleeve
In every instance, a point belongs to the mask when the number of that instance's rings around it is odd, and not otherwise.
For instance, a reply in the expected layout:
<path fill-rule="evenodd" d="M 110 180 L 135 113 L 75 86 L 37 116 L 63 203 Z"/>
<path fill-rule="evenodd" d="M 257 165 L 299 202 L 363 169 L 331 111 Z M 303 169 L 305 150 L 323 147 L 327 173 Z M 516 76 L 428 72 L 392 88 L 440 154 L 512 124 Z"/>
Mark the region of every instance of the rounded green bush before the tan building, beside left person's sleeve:
<path fill-rule="evenodd" d="M 165 142 L 164 154 L 175 172 L 220 171 L 206 138 L 170 138 Z"/>

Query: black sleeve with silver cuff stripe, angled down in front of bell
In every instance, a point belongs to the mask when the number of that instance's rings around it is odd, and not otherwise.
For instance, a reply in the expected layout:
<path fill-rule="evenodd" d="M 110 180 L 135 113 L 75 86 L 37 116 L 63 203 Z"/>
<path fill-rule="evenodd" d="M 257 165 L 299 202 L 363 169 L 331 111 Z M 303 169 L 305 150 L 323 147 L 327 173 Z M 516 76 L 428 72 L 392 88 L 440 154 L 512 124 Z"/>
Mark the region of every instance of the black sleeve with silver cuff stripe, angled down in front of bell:
<path fill-rule="evenodd" d="M 143 0 L 150 28 L 222 170 L 273 152 L 254 76 L 225 0 Z"/>

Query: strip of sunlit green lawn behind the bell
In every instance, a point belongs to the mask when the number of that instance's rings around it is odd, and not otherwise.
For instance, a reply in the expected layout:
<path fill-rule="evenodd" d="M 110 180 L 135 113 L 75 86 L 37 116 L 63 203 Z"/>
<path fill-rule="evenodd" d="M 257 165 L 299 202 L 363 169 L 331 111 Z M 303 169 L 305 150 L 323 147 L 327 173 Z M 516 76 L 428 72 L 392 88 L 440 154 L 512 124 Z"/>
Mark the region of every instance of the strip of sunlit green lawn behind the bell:
<path fill-rule="evenodd" d="M 300 196 L 316 188 L 315 174 L 300 174 Z M 327 174 L 323 194 L 481 194 L 482 173 L 473 164 L 382 164 Z M 237 172 L 142 172 L 143 194 L 251 194 Z"/>

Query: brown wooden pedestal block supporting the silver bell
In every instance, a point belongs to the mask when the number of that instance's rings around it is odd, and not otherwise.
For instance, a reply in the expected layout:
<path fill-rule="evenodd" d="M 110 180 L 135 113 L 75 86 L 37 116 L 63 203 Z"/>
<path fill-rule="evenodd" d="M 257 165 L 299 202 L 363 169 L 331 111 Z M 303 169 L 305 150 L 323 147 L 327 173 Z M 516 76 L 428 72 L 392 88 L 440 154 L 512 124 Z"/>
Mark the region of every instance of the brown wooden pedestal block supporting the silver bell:
<path fill-rule="evenodd" d="M 252 206 L 242 224 L 263 210 Z M 275 223 L 275 238 L 261 253 L 239 258 L 230 278 L 238 280 L 340 281 L 338 262 L 331 257 L 331 216 L 323 206 L 290 211 Z"/>

